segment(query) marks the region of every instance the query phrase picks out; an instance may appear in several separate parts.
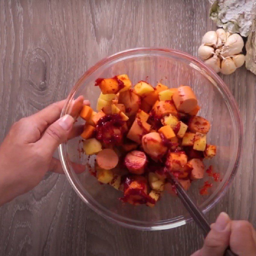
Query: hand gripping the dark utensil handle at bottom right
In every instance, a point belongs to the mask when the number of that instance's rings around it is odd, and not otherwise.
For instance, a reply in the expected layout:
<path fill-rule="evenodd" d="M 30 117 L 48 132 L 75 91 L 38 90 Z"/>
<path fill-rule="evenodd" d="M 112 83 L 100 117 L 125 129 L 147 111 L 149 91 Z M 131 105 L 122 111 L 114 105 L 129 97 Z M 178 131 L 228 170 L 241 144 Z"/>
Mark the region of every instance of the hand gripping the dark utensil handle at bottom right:
<path fill-rule="evenodd" d="M 245 220 L 230 220 L 221 212 L 211 231 L 204 240 L 204 246 L 191 256 L 222 256 L 228 245 L 238 256 L 256 255 L 256 232 Z"/>

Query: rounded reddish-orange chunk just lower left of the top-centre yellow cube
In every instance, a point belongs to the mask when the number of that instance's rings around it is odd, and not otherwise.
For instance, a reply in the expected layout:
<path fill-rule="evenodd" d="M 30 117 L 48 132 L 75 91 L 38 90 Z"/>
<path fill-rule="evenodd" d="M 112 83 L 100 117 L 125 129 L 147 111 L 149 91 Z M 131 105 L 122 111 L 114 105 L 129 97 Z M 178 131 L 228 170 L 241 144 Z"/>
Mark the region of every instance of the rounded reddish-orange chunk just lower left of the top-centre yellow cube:
<path fill-rule="evenodd" d="M 140 108 L 140 96 L 132 89 L 120 92 L 118 103 L 124 104 L 127 116 L 135 115 Z"/>

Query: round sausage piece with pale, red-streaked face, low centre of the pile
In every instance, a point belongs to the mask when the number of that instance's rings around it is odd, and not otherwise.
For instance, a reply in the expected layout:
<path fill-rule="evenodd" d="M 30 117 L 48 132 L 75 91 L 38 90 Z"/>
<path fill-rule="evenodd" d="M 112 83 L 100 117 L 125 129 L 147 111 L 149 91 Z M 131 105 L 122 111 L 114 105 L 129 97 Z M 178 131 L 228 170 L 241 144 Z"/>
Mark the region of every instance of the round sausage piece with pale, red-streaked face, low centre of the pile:
<path fill-rule="evenodd" d="M 131 173 L 142 174 L 147 164 L 147 156 L 144 152 L 133 150 L 125 156 L 124 164 Z"/>

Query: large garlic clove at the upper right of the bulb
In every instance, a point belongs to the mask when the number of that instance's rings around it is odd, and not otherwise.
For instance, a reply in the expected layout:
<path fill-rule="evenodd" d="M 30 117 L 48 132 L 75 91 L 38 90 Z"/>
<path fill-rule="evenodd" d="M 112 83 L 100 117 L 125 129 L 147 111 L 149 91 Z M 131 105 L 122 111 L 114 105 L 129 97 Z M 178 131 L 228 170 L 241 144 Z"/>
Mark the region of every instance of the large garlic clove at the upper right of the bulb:
<path fill-rule="evenodd" d="M 224 57 L 236 55 L 242 52 L 244 47 L 243 38 L 238 34 L 228 36 L 226 43 L 223 45 L 221 55 Z"/>

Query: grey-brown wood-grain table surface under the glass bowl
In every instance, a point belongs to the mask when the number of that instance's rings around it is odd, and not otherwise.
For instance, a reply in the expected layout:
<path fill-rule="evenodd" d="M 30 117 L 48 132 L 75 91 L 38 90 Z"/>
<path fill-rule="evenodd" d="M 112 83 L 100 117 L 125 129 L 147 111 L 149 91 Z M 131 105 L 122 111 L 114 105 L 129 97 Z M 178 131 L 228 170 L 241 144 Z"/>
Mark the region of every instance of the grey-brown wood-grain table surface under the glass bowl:
<path fill-rule="evenodd" d="M 84 71 L 124 49 L 157 46 L 197 55 L 215 25 L 207 0 L 0 0 L 0 141 L 13 122 L 68 95 Z M 244 67 L 221 76 L 244 124 L 244 153 L 221 211 L 256 221 L 255 80 Z M 22 154 L 17 148 L 17 154 Z M 194 223 L 143 232 L 93 212 L 64 175 L 47 174 L 31 192 L 0 208 L 0 255 L 190 255 L 203 242 Z"/>

